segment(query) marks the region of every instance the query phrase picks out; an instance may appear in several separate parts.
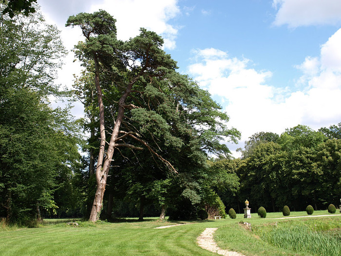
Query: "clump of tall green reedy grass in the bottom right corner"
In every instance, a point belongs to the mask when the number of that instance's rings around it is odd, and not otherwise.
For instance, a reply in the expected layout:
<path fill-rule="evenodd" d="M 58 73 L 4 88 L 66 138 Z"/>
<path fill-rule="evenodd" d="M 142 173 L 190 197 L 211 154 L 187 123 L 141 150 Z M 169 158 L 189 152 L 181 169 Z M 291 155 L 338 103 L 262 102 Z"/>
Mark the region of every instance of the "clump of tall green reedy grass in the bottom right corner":
<path fill-rule="evenodd" d="M 274 227 L 262 234 L 268 243 L 294 252 L 321 256 L 341 256 L 340 238 L 310 230 L 307 226 Z"/>

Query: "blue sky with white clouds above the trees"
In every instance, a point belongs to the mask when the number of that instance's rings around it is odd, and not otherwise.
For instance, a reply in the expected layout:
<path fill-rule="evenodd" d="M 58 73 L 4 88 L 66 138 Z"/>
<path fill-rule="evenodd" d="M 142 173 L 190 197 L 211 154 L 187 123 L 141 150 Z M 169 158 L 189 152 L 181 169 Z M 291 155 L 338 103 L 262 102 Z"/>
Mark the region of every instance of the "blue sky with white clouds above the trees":
<path fill-rule="evenodd" d="M 73 46 L 79 28 L 70 15 L 106 10 L 118 39 L 144 27 L 161 35 L 164 50 L 226 111 L 242 134 L 227 143 L 233 156 L 257 132 L 281 134 L 298 124 L 314 130 L 341 122 L 340 0 L 38 0 L 70 50 L 57 82 L 79 74 Z M 81 104 L 74 114 L 82 116 Z"/>

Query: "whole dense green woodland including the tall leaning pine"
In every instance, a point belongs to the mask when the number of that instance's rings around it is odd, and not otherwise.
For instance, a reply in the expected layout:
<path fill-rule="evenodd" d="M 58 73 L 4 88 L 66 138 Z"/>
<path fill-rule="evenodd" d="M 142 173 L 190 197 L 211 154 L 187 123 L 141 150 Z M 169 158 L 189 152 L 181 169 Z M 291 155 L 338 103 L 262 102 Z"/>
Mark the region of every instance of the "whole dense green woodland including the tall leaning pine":
<path fill-rule="evenodd" d="M 69 17 L 84 35 L 74 49 L 84 69 L 62 89 L 57 28 L 37 4 L 12 18 L 0 6 L 0 218 L 188 219 L 242 212 L 245 199 L 269 212 L 338 205 L 341 123 L 259 132 L 232 158 L 225 143 L 240 133 L 154 32 L 121 41 L 103 10 Z M 84 118 L 51 98 L 81 101 Z"/>

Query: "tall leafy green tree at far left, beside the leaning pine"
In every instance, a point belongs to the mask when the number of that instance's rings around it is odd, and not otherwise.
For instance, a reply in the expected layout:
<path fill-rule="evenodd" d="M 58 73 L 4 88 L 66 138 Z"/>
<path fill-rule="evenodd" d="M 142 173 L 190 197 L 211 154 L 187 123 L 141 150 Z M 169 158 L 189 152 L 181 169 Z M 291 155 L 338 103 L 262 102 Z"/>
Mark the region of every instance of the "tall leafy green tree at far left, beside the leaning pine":
<path fill-rule="evenodd" d="M 56 204 L 59 188 L 71 196 L 79 126 L 69 106 L 52 109 L 47 100 L 64 94 L 53 82 L 65 54 L 56 27 L 39 12 L 1 15 L 0 23 L 0 217 L 33 227 L 39 213 L 67 204 Z"/>

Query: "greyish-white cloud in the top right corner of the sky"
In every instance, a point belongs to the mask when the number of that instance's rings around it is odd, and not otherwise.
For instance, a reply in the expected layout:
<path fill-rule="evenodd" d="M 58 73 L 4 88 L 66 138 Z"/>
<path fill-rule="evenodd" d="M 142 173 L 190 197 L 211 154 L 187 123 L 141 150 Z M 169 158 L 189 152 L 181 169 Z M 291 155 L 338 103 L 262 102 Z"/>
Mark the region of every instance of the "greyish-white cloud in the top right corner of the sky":
<path fill-rule="evenodd" d="M 340 24 L 340 0 L 273 0 L 278 9 L 274 25 L 289 27 Z"/>

